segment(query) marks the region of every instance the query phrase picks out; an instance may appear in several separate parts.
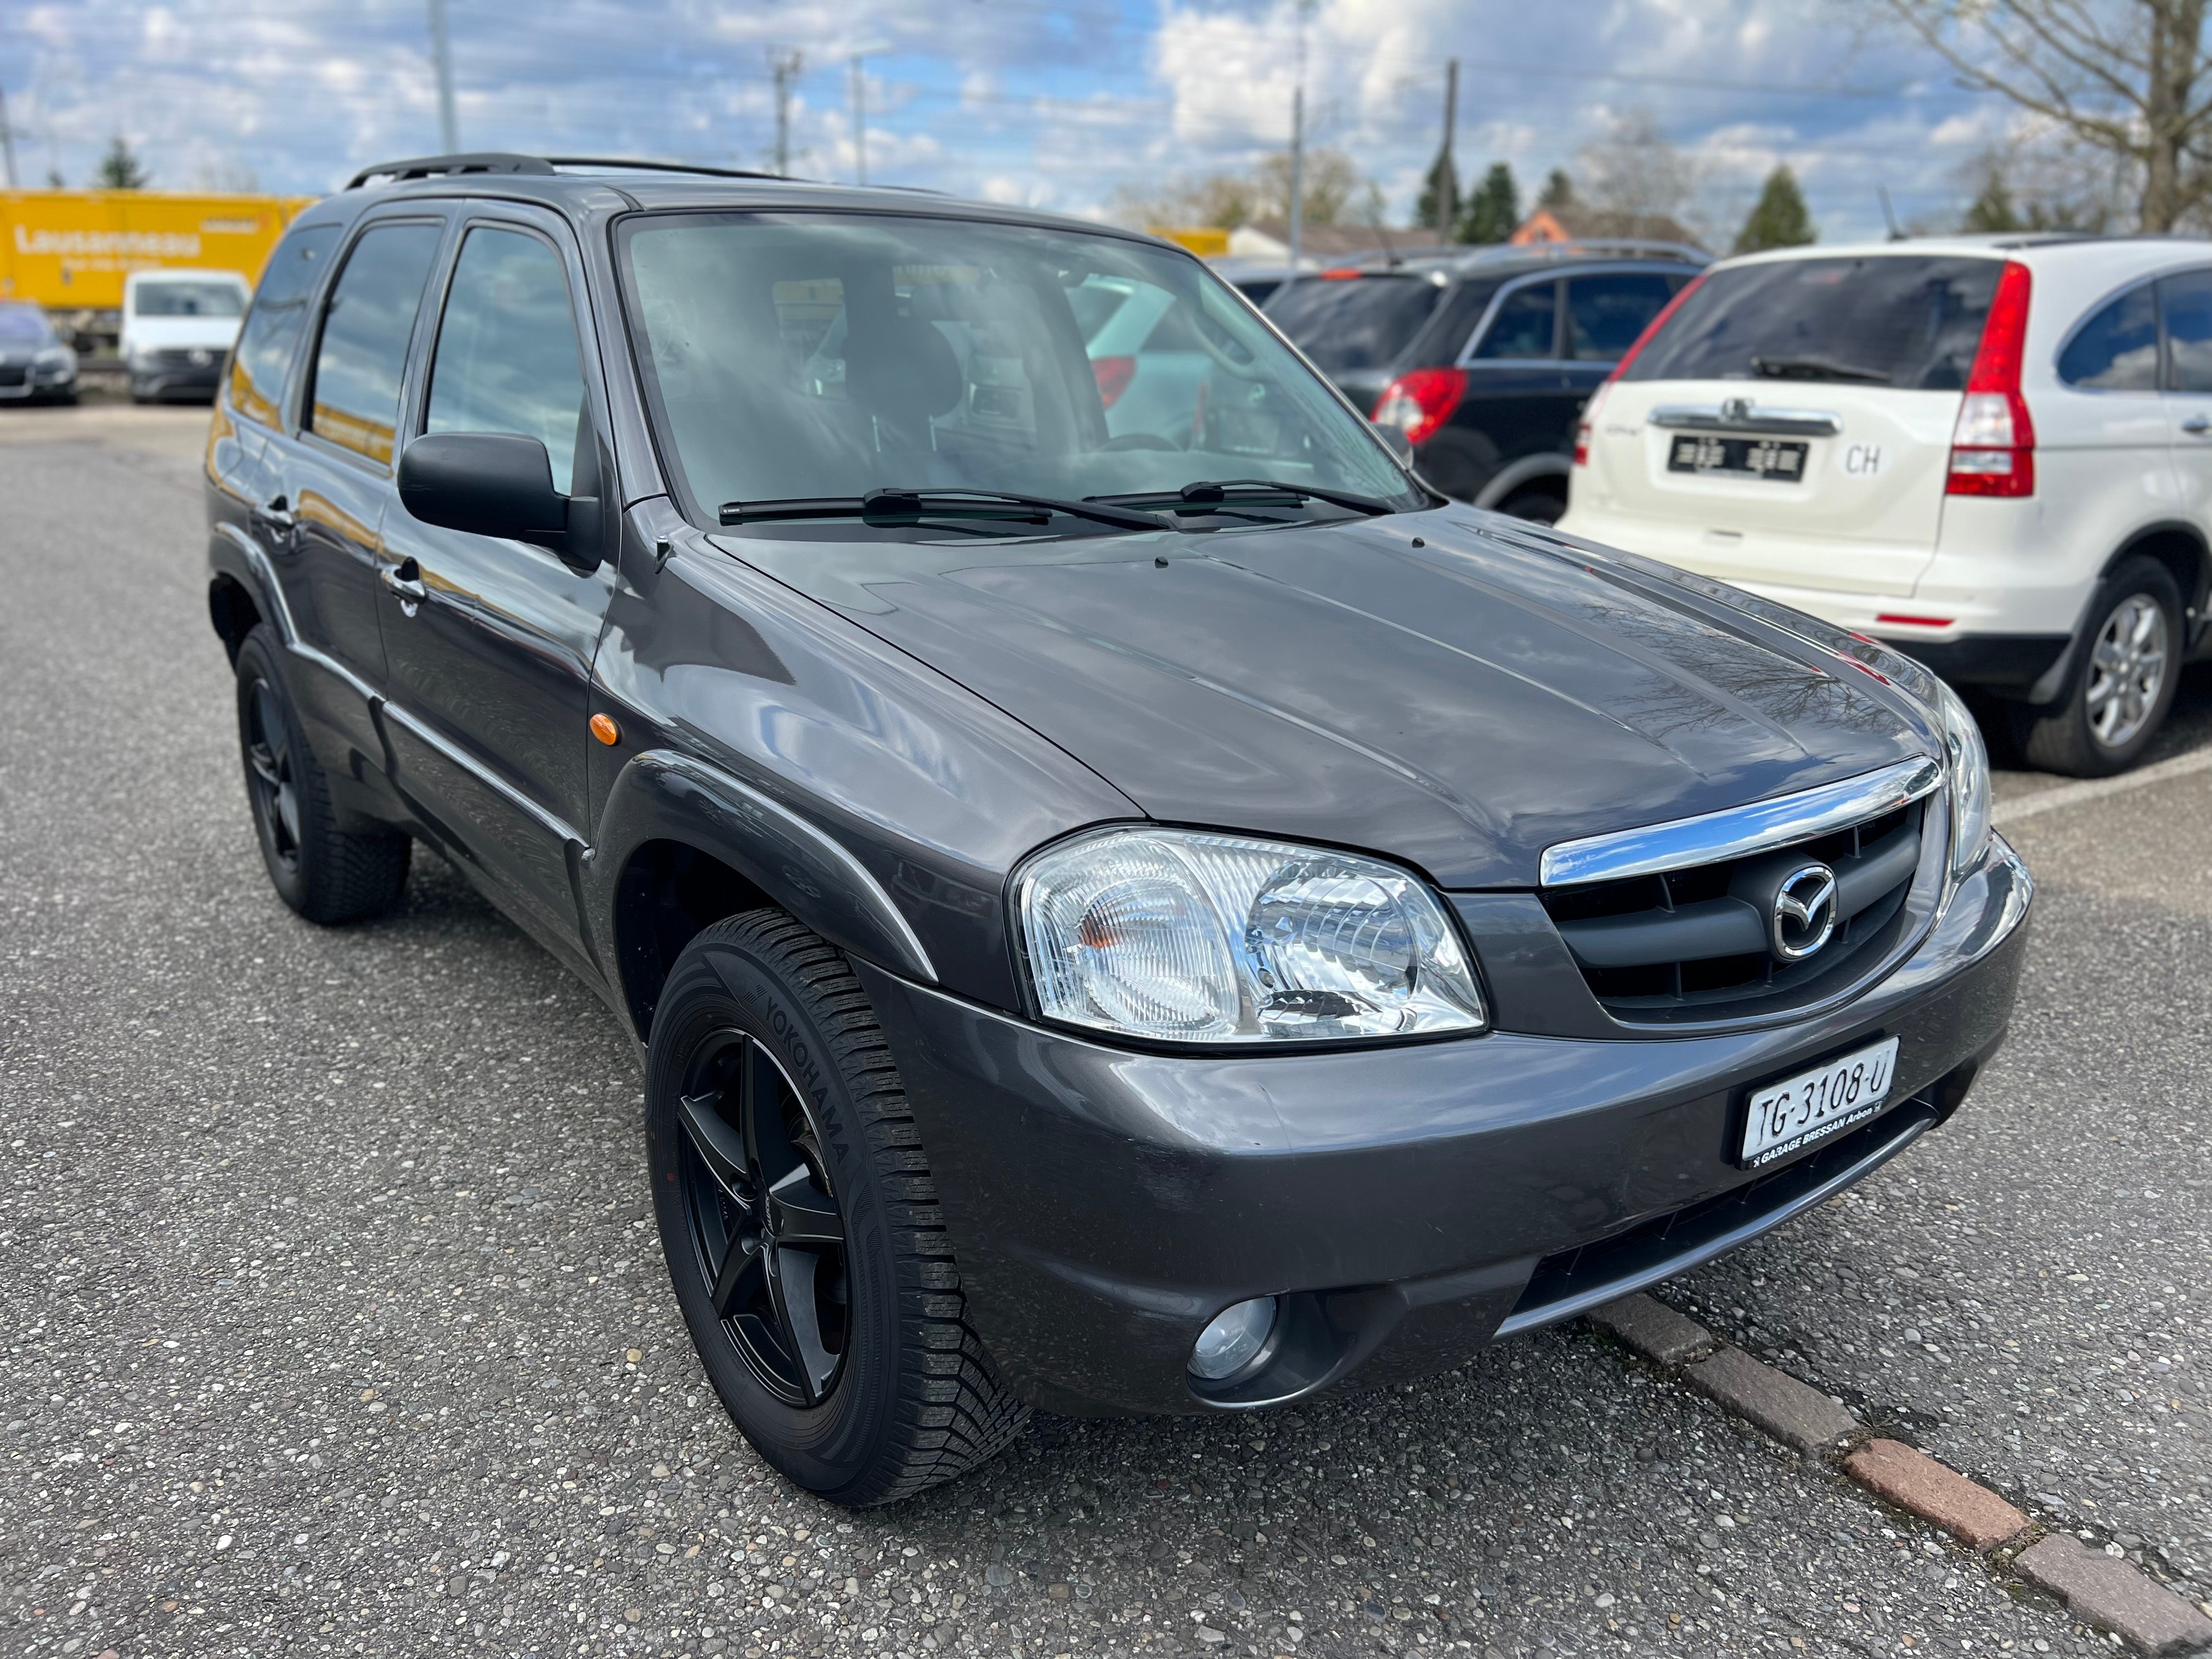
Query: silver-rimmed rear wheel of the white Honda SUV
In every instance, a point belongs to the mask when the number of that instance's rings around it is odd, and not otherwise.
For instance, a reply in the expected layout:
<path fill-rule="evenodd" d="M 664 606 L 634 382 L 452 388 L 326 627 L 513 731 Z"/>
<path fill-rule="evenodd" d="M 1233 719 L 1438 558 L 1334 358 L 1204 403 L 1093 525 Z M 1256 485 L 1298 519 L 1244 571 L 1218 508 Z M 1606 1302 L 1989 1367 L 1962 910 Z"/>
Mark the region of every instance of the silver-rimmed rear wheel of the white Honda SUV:
<path fill-rule="evenodd" d="M 2157 560 L 2128 560 L 2097 588 L 2066 697 L 2020 712 L 2033 765 L 2077 779 L 2126 772 L 2166 723 L 2181 670 L 2181 591 Z"/>

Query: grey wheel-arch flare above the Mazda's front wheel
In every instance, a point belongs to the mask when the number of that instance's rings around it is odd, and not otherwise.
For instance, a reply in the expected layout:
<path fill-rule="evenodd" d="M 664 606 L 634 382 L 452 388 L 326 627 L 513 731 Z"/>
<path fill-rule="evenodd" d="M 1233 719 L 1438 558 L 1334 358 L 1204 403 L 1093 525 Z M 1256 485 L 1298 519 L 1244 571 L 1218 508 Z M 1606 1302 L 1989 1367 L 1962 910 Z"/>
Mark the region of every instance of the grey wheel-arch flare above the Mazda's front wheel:
<path fill-rule="evenodd" d="M 613 962 L 615 896 L 630 854 L 677 841 L 719 858 L 841 951 L 922 984 L 938 982 L 920 936 L 883 883 L 830 832 L 728 772 L 646 750 L 606 794 L 586 872 L 593 933 Z"/>

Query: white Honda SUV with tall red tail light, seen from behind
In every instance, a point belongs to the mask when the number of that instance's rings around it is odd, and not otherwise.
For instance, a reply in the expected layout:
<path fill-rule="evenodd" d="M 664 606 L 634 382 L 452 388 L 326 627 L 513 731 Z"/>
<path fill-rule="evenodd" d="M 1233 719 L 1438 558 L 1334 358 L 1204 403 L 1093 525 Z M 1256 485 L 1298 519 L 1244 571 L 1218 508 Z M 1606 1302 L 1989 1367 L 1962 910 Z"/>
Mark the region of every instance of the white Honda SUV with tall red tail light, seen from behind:
<path fill-rule="evenodd" d="M 1703 272 L 1582 414 L 1562 531 L 1898 646 L 2132 765 L 2205 639 L 2212 243 L 1947 237 Z"/>

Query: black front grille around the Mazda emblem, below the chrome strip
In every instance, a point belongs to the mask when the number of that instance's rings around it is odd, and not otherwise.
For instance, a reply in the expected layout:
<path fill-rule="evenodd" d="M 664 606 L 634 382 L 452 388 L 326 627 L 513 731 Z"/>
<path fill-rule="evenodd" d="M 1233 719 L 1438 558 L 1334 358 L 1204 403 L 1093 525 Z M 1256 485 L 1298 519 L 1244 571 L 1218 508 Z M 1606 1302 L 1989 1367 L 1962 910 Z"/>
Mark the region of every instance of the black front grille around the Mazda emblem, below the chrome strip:
<path fill-rule="evenodd" d="M 1920 872 L 1927 807 L 1909 801 L 1741 858 L 1551 889 L 1544 909 L 1590 991 L 1621 1020 L 1759 1013 L 1820 995 L 1887 956 Z M 1781 874 L 1812 863 L 1834 872 L 1836 927 L 1812 956 L 1785 960 L 1770 896 Z"/>

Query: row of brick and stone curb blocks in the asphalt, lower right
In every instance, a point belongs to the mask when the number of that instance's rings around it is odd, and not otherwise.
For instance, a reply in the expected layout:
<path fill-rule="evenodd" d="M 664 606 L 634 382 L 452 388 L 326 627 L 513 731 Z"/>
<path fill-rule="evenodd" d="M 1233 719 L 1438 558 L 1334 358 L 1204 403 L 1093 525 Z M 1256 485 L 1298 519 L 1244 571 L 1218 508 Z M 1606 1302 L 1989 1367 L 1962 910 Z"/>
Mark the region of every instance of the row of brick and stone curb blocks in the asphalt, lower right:
<path fill-rule="evenodd" d="M 1902 1440 L 1865 1438 L 1858 1418 L 1827 1394 L 1728 1347 L 1666 1303 L 1624 1296 L 1593 1307 L 1588 1321 L 1792 1451 L 1834 1455 L 1876 1498 L 1940 1526 L 1991 1571 L 2011 1571 L 2055 1595 L 2081 1624 L 2110 1630 L 2152 1659 L 2212 1650 L 2212 1619 L 2141 1568 L 2088 1551 L 2068 1533 L 2037 1540 L 2035 1524 L 1989 1486 Z M 2011 1555 L 2006 1546 L 2020 1544 L 2026 1548 Z"/>

